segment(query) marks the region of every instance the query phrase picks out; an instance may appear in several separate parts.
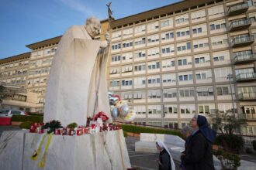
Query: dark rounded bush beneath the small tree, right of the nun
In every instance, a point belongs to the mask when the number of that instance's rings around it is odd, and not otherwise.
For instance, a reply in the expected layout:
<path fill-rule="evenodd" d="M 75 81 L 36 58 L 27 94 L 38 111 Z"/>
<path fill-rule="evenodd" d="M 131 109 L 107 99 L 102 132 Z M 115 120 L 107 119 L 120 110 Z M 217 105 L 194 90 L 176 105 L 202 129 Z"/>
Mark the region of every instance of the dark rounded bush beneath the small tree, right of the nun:
<path fill-rule="evenodd" d="M 239 153 L 244 148 L 244 140 L 242 137 L 235 134 L 220 134 L 217 135 L 214 141 L 216 145 L 222 145 L 227 151 Z"/>

